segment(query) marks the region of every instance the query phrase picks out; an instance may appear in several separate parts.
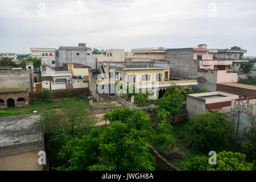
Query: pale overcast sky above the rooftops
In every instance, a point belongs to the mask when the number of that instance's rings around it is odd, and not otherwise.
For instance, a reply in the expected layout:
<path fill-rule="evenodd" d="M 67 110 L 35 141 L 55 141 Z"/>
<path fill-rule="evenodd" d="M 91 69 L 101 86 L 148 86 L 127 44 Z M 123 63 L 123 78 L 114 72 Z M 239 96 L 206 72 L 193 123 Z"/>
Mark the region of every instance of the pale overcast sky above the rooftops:
<path fill-rule="evenodd" d="M 247 49 L 256 56 L 256 1 L 0 0 L 0 52 L 86 43 L 111 49 Z"/>

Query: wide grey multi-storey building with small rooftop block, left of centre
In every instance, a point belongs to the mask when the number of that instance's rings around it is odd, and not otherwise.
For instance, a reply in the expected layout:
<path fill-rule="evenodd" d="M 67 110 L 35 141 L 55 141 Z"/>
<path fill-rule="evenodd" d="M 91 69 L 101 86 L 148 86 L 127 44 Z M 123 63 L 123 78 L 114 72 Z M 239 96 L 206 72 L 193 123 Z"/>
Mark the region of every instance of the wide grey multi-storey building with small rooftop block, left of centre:
<path fill-rule="evenodd" d="M 83 64 L 96 68 L 96 58 L 92 55 L 92 49 L 86 47 L 85 43 L 79 43 L 78 47 L 60 46 L 55 51 L 56 67 L 63 67 L 65 64 Z"/>

